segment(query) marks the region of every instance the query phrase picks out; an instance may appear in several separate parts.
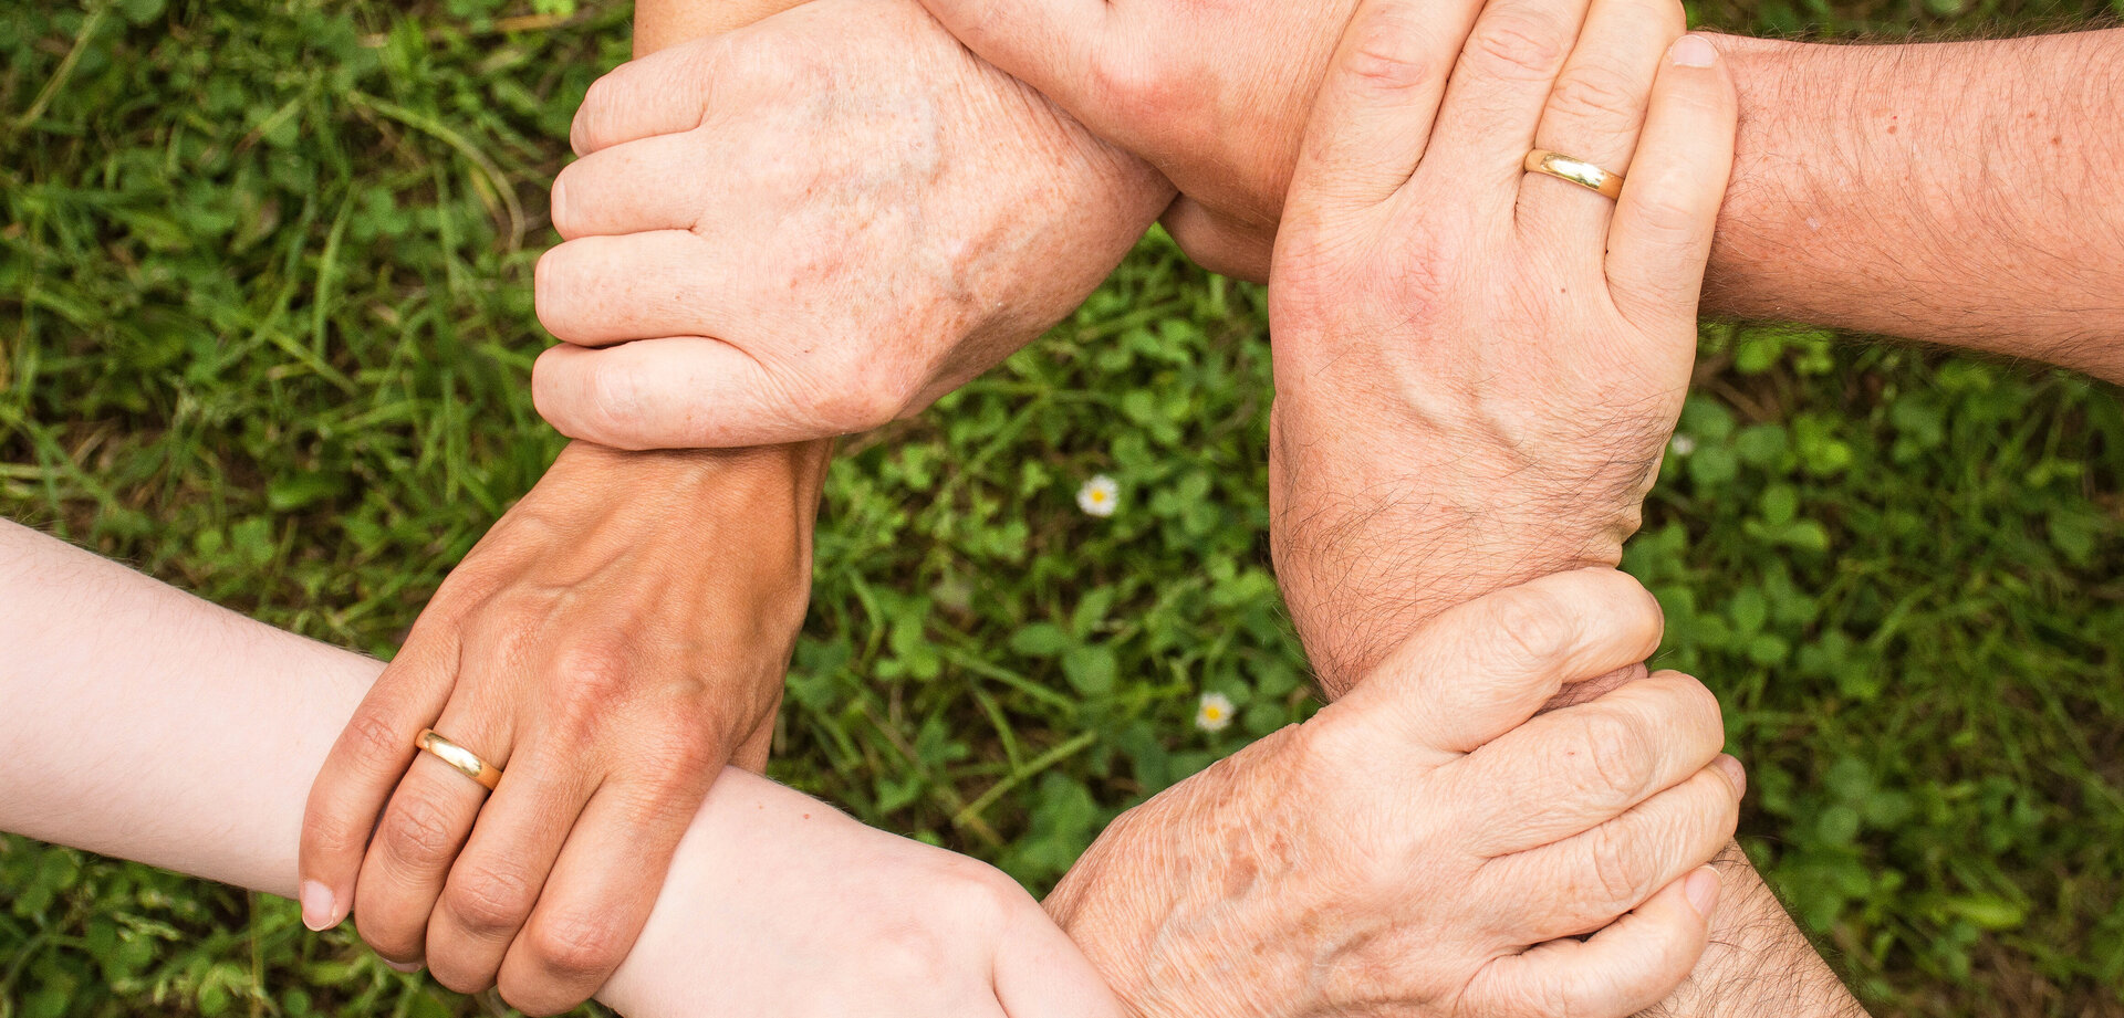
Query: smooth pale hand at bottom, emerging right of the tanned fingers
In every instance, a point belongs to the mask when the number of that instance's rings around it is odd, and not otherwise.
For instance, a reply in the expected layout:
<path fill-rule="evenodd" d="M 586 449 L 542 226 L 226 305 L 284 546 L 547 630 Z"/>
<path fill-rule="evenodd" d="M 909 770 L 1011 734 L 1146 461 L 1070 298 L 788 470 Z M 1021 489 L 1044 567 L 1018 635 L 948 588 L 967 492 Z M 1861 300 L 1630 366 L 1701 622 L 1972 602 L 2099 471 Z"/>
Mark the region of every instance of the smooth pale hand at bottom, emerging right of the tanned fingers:
<path fill-rule="evenodd" d="M 650 1018 L 1121 1016 L 1009 876 L 737 772 L 599 999 Z"/>

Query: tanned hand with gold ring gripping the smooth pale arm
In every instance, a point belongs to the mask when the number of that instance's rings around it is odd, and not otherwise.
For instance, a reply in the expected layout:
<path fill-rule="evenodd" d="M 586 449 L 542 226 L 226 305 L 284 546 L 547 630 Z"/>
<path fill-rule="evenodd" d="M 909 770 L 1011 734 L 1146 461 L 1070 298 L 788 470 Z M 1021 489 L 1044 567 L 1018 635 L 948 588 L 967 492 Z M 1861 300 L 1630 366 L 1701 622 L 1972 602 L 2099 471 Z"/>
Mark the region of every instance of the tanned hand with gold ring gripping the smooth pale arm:
<path fill-rule="evenodd" d="M 531 1014 L 597 990 L 714 776 L 733 753 L 767 759 L 822 471 L 818 445 L 569 445 L 331 749 L 304 819 L 304 920 L 353 906 L 387 961 L 425 959 L 465 993 L 499 980 Z M 501 768 L 499 789 L 414 753 L 423 727 Z"/>

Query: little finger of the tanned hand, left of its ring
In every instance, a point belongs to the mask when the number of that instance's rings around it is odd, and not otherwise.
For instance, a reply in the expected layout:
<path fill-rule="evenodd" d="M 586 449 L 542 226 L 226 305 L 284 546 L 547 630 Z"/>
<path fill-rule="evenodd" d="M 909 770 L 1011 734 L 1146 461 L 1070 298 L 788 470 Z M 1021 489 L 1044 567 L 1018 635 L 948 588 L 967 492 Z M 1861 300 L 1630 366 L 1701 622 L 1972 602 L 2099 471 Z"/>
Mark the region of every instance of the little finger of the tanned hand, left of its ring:
<path fill-rule="evenodd" d="M 450 700 L 457 664 L 446 626 L 414 626 L 355 717 L 331 744 L 302 817 L 302 923 L 331 929 L 355 908 L 355 878 L 391 789 L 412 763 L 414 738 Z"/>

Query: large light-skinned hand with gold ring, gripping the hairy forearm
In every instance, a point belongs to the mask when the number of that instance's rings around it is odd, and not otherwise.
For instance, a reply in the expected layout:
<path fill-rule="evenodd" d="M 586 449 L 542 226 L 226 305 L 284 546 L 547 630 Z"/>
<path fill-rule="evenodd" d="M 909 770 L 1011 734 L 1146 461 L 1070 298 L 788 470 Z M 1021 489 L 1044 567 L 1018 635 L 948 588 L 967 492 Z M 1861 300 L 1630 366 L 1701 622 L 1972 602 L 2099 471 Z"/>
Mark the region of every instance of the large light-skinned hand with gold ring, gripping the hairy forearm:
<path fill-rule="evenodd" d="M 1659 473 L 1733 89 L 1680 4 L 1585 6 L 1491 0 L 1470 34 L 1374 0 L 1321 87 L 1268 288 L 1270 537 L 1330 687 L 1446 604 L 1618 562 Z"/>

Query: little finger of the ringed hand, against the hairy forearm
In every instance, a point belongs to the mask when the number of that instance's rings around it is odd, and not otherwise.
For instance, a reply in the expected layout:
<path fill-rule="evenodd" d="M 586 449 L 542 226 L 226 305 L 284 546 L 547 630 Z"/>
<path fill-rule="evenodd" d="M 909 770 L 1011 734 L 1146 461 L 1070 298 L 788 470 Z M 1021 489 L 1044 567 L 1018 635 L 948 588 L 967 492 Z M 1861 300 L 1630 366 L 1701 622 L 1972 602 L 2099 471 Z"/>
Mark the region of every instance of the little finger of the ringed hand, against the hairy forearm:
<path fill-rule="evenodd" d="M 1703 36 L 1667 49 L 1644 138 L 1608 227 L 1608 291 L 1640 329 L 1693 320 L 1733 170 L 1733 78 Z"/>

